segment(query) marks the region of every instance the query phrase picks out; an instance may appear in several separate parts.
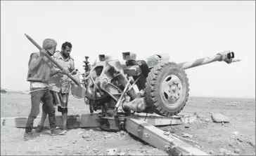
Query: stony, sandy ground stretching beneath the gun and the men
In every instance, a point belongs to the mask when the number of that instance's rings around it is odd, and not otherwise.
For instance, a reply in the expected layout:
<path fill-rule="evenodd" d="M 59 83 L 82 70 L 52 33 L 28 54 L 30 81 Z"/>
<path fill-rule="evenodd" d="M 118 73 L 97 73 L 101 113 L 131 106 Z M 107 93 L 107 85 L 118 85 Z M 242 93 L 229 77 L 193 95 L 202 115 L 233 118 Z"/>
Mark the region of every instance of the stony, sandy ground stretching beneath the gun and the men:
<path fill-rule="evenodd" d="M 89 113 L 83 99 L 70 96 L 68 107 L 69 114 Z M 30 95 L 1 94 L 1 118 L 27 117 L 29 112 Z M 255 99 L 190 97 L 182 113 L 196 114 L 198 120 L 160 129 L 178 136 L 190 134 L 186 139 L 191 141 L 185 142 L 211 155 L 255 155 Z M 211 113 L 222 113 L 230 122 L 212 122 Z M 65 136 L 49 136 L 46 130 L 23 141 L 24 131 L 1 125 L 1 155 L 167 155 L 126 132 L 70 129 Z"/>

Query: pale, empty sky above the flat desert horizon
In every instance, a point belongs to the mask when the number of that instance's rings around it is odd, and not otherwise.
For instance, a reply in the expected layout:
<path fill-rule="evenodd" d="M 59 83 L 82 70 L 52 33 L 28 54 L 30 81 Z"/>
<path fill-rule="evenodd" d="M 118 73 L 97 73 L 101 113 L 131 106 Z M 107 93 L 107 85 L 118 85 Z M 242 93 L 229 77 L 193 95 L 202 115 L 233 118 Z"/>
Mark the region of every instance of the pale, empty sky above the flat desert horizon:
<path fill-rule="evenodd" d="M 235 52 L 241 62 L 186 69 L 190 96 L 255 99 L 255 1 L 1 1 L 1 88 L 29 90 L 27 63 L 39 45 L 69 41 L 75 66 L 84 56 L 138 59 L 168 53 L 186 62 Z"/>

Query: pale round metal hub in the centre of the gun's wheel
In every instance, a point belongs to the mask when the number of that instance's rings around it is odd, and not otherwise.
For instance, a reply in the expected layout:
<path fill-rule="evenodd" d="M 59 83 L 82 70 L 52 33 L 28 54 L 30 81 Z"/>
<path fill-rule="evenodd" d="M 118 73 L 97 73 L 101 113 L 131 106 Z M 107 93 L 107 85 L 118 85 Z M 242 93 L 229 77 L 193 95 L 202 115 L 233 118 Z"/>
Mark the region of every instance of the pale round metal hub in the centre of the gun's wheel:
<path fill-rule="evenodd" d="M 182 92 L 181 80 L 178 76 L 169 75 L 162 83 L 162 97 L 168 101 L 168 104 L 174 104 Z"/>

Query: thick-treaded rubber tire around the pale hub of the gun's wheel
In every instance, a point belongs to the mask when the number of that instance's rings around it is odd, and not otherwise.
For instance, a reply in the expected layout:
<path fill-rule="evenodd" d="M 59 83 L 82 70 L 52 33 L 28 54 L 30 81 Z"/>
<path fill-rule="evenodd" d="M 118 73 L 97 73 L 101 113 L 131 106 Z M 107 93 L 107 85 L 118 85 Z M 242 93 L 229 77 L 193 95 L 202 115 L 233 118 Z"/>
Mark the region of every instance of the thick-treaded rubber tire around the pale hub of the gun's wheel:
<path fill-rule="evenodd" d="M 173 106 L 166 104 L 166 101 L 162 98 L 161 90 L 162 81 L 166 76 L 173 74 L 178 76 L 182 84 L 182 93 L 177 103 Z M 188 78 L 184 69 L 181 69 L 174 62 L 161 62 L 151 69 L 146 79 L 146 101 L 149 106 L 152 106 L 153 112 L 162 116 L 177 115 L 186 105 L 188 101 L 189 92 Z"/>

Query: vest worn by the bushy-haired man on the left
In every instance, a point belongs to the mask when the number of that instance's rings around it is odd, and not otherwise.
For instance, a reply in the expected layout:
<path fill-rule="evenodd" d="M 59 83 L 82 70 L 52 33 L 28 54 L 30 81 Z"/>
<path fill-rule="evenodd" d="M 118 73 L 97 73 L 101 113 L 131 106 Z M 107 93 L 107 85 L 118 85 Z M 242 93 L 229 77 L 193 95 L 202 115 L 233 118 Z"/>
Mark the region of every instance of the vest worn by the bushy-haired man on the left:
<path fill-rule="evenodd" d="M 27 81 L 33 82 L 41 82 L 41 83 L 48 83 L 50 73 L 51 73 L 51 68 L 53 66 L 53 63 L 48 59 L 45 61 L 44 58 L 41 59 L 39 62 L 39 65 L 34 68 L 30 69 L 30 63 L 32 57 L 38 58 L 40 55 L 39 52 L 34 52 L 30 55 L 30 61 L 28 62 L 28 73 L 27 73 Z"/>

